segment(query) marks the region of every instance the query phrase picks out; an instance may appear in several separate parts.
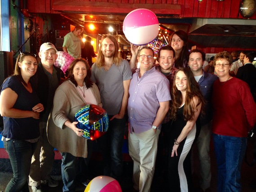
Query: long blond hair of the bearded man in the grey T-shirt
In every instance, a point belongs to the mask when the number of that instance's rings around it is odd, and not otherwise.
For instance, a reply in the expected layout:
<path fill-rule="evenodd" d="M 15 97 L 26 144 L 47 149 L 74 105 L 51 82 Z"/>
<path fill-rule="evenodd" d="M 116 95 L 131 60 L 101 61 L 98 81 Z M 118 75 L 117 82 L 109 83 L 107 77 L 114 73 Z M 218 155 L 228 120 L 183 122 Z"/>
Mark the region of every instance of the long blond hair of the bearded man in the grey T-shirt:
<path fill-rule="evenodd" d="M 115 45 L 115 54 L 114 54 L 114 61 L 113 61 L 115 63 L 115 65 L 119 66 L 121 64 L 121 61 L 123 60 L 123 58 L 121 57 L 121 55 L 119 53 L 119 45 L 118 45 L 115 37 L 113 35 L 104 35 L 104 36 L 102 36 L 101 44 L 99 47 L 99 52 L 98 52 L 98 55 L 96 58 L 96 66 L 98 68 L 103 67 L 105 65 L 105 57 L 102 53 L 102 41 L 106 38 L 110 39 Z"/>

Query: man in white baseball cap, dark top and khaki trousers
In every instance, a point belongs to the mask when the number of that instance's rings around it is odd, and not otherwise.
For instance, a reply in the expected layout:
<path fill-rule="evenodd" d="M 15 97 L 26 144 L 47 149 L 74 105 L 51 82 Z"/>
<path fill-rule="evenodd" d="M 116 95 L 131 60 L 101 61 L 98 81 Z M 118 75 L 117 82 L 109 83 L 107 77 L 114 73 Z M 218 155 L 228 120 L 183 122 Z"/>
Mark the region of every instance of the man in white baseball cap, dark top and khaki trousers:
<path fill-rule="evenodd" d="M 49 113 L 53 106 L 55 90 L 65 76 L 59 68 L 54 66 L 57 59 L 57 49 L 52 43 L 44 43 L 38 53 L 41 61 L 38 63 L 36 74 L 31 79 L 32 86 L 44 105 L 44 112 L 40 113 L 40 138 L 31 160 L 29 185 L 33 192 L 42 192 L 41 183 L 49 187 L 56 187 L 58 182 L 50 176 L 54 162 L 53 147 L 49 144 L 46 134 Z"/>

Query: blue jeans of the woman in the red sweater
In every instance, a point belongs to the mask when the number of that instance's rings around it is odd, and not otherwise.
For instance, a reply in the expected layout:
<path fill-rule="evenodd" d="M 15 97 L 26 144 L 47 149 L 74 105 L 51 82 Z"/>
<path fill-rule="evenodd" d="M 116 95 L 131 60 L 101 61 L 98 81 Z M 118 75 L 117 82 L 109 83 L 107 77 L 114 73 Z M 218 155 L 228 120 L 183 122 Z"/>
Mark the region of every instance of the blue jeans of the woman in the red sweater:
<path fill-rule="evenodd" d="M 241 165 L 246 150 L 246 137 L 213 134 L 218 168 L 218 192 L 241 192 Z"/>

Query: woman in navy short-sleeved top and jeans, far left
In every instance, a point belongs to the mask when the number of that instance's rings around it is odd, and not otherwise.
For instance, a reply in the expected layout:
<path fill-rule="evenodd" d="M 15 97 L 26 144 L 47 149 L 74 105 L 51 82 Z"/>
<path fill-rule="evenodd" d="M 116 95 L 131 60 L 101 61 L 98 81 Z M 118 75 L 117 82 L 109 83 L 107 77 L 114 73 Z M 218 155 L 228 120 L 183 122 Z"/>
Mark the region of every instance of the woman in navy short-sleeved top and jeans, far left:
<path fill-rule="evenodd" d="M 34 54 L 21 53 L 14 74 L 4 80 L 0 94 L 0 114 L 4 120 L 2 140 L 9 155 L 13 178 L 5 192 L 29 192 L 31 157 L 39 139 L 39 114 L 44 106 L 31 87 L 30 78 L 37 70 Z"/>

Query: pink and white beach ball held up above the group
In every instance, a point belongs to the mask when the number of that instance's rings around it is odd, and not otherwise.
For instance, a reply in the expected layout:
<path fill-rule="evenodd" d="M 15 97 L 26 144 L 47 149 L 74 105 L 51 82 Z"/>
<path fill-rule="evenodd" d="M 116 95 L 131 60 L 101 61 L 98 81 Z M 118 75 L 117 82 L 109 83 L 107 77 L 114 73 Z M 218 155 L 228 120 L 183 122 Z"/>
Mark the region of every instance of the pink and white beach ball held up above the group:
<path fill-rule="evenodd" d="M 158 35 L 158 28 L 158 19 L 149 9 L 135 9 L 124 18 L 124 35 L 135 45 L 145 45 L 153 41 Z"/>

